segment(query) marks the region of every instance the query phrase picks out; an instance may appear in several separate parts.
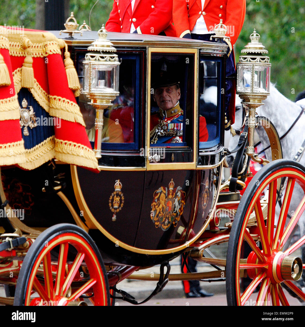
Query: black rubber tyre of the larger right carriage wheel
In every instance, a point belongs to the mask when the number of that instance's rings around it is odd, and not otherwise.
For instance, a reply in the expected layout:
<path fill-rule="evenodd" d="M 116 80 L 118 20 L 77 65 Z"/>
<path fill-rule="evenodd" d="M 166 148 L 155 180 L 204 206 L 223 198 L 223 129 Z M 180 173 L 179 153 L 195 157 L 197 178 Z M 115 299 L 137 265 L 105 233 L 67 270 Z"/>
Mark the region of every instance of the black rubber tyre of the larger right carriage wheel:
<path fill-rule="evenodd" d="M 234 222 L 232 225 L 232 229 L 230 232 L 229 242 L 228 242 L 228 250 L 227 250 L 227 266 L 226 266 L 226 295 L 227 295 L 227 304 L 228 305 L 237 305 L 236 298 L 236 257 L 237 257 L 237 246 L 238 239 L 241 233 L 242 223 L 244 221 L 248 204 L 250 203 L 253 195 L 259 188 L 261 182 L 274 171 L 284 168 L 291 167 L 301 170 L 305 174 L 305 167 L 301 164 L 287 159 L 279 159 L 275 160 L 271 163 L 265 165 L 262 169 L 260 169 L 255 177 L 252 178 L 247 189 L 242 196 L 240 203 L 238 205 L 236 215 L 234 218 Z M 259 182 L 257 182 L 259 181 Z"/>

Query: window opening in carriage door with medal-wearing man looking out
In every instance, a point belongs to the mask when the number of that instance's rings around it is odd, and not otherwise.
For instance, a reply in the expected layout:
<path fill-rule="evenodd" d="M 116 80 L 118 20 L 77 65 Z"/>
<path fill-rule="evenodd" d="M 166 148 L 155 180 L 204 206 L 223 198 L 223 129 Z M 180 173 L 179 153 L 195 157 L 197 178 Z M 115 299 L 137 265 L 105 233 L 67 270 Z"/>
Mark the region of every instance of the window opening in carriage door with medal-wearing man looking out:
<path fill-rule="evenodd" d="M 151 146 L 191 147 L 193 65 L 189 54 L 151 56 Z"/>

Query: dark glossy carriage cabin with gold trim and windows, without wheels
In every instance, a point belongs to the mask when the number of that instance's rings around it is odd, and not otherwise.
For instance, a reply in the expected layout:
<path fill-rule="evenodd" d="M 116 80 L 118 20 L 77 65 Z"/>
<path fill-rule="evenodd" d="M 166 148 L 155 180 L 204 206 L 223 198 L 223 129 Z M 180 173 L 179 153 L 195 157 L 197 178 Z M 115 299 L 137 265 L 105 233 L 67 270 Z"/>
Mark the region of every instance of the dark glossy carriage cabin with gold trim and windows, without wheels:
<path fill-rule="evenodd" d="M 94 38 L 94 32 L 86 32 L 66 40 L 81 85 L 82 61 Z M 185 252 L 209 228 L 219 193 L 215 181 L 224 159 L 221 90 L 226 45 L 124 33 L 109 33 L 107 38 L 121 60 L 120 95 L 104 117 L 117 120 L 124 139 L 102 143 L 98 175 L 71 166 L 71 194 L 106 262 L 147 266 Z M 180 82 L 183 142 L 152 145 L 150 116 L 157 106 L 153 75 L 164 62 Z M 209 91 L 212 99 L 207 100 Z M 84 101 L 81 94 L 79 105 L 89 129 L 86 117 L 92 107 Z M 200 116 L 209 134 L 205 142 L 199 142 Z M 159 162 L 149 159 L 154 155 L 160 155 Z M 120 203 L 114 208 L 117 196 Z"/>

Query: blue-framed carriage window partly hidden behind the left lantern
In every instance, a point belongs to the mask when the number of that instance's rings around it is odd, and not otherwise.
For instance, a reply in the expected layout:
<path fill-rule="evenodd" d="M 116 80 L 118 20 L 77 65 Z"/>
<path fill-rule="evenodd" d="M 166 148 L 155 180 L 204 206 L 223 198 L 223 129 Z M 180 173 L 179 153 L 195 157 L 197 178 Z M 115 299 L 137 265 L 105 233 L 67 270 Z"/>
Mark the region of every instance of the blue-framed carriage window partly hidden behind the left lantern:
<path fill-rule="evenodd" d="M 138 112 L 139 112 L 139 56 L 119 54 L 119 92 L 113 104 L 104 110 L 102 130 L 102 151 L 107 149 L 138 148 Z M 80 61 L 84 58 L 80 57 Z M 82 76 L 82 63 L 79 63 Z M 82 84 L 82 78 L 80 78 Z M 95 137 L 95 109 L 89 100 L 81 94 L 79 106 L 83 114 L 89 141 Z"/>

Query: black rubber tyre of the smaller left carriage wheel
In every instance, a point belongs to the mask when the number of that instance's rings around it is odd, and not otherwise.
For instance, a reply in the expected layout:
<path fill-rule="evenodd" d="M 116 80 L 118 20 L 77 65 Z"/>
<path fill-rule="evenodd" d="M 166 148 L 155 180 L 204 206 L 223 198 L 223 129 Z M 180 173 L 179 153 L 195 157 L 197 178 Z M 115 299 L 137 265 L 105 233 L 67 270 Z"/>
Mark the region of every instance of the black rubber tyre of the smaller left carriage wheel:
<path fill-rule="evenodd" d="M 109 292 L 107 272 L 106 272 L 106 269 L 105 269 L 105 266 L 103 263 L 103 259 L 100 255 L 99 249 L 88 233 L 86 233 L 82 228 L 80 228 L 76 225 L 72 225 L 72 224 L 57 224 L 57 225 L 54 225 L 54 226 L 46 229 L 44 232 L 42 232 L 37 237 L 37 239 L 31 245 L 30 249 L 28 250 L 28 252 L 23 260 L 23 264 L 22 264 L 22 267 L 20 269 L 20 273 L 19 273 L 19 276 L 17 279 L 15 297 L 14 297 L 14 305 L 19 305 L 19 306 L 24 305 L 26 286 L 27 286 L 27 283 L 29 280 L 30 272 L 33 269 L 33 265 L 35 263 L 35 260 L 38 257 L 38 254 L 45 246 L 45 242 L 49 242 L 55 236 L 66 233 L 66 232 L 72 232 L 72 233 L 82 236 L 90 244 L 90 246 L 94 249 L 95 254 L 97 255 L 97 257 L 99 259 L 99 264 L 100 264 L 100 267 L 102 268 L 104 278 L 105 278 L 106 291 L 107 291 L 107 305 L 110 305 L 110 292 Z"/>

